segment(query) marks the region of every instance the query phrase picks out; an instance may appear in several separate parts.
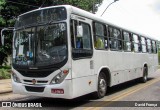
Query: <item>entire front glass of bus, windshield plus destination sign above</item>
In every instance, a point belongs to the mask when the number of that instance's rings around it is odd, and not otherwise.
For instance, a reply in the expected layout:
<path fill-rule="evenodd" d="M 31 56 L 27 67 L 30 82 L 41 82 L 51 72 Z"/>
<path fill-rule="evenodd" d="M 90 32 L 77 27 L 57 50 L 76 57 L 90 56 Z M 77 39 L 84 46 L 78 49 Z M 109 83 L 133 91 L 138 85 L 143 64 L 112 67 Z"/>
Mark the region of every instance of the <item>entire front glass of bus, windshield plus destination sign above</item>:
<path fill-rule="evenodd" d="M 14 67 L 50 67 L 67 59 L 67 11 L 44 8 L 18 17 L 13 37 Z"/>

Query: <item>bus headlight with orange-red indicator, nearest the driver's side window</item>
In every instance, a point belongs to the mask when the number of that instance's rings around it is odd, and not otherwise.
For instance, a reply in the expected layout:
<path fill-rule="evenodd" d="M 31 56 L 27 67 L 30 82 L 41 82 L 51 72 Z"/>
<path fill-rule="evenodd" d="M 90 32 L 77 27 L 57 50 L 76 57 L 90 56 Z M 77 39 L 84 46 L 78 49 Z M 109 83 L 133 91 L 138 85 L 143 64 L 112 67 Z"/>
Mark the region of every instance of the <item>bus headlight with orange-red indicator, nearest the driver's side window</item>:
<path fill-rule="evenodd" d="M 51 84 L 60 84 L 63 82 L 65 77 L 68 75 L 69 70 L 63 70 L 62 72 L 58 73 L 51 81 Z"/>

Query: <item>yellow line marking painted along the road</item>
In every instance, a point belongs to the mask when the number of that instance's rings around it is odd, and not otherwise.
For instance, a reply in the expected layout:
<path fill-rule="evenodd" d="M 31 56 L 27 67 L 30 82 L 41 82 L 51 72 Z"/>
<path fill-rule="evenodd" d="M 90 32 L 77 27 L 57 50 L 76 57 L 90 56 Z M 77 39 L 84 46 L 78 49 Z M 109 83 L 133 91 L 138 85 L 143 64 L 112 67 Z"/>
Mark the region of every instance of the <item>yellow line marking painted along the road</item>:
<path fill-rule="evenodd" d="M 133 88 L 131 88 L 130 90 L 128 90 L 128 91 L 126 91 L 126 92 L 123 92 L 122 94 L 119 94 L 119 95 L 117 95 L 117 96 L 115 96 L 115 97 L 112 97 L 112 98 L 108 98 L 108 99 L 104 99 L 103 101 L 103 103 L 102 102 L 99 102 L 99 103 L 97 103 L 97 104 L 95 104 L 94 103 L 94 107 L 89 107 L 89 108 L 86 108 L 85 110 L 99 110 L 100 108 L 102 108 L 103 106 L 105 107 L 105 106 L 107 106 L 107 105 L 110 105 L 110 104 L 112 104 L 112 103 L 114 103 L 113 101 L 118 101 L 118 100 L 120 100 L 120 99 L 122 99 L 122 98 L 124 98 L 124 97 L 126 97 L 126 96 L 129 96 L 129 95 L 131 95 L 131 94 L 133 94 L 133 93 L 135 93 L 135 92 L 137 92 L 137 91 L 139 91 L 139 90 L 141 90 L 141 89 L 144 89 L 144 88 L 146 88 L 146 87 L 148 87 L 148 86 L 150 86 L 150 85 L 152 85 L 152 84 L 154 84 L 154 83 L 156 83 L 156 82 L 158 82 L 158 81 L 160 81 L 160 78 L 158 78 L 158 79 L 155 79 L 155 80 L 151 80 L 151 81 L 148 81 L 147 83 L 145 83 L 145 84 L 140 84 L 140 85 L 138 85 L 136 88 L 135 87 L 133 87 Z M 108 102 L 106 102 L 106 101 L 108 101 Z"/>

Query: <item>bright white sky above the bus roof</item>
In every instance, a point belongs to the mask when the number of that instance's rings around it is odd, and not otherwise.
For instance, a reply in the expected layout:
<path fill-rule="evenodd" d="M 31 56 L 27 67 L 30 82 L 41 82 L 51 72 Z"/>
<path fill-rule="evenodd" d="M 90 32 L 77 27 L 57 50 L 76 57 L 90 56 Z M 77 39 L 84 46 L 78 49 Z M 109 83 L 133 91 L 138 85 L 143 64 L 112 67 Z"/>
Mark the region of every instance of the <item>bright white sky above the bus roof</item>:
<path fill-rule="evenodd" d="M 113 0 L 103 0 L 96 15 L 101 16 Z M 160 0 L 119 0 L 102 15 L 108 22 L 160 41 Z"/>

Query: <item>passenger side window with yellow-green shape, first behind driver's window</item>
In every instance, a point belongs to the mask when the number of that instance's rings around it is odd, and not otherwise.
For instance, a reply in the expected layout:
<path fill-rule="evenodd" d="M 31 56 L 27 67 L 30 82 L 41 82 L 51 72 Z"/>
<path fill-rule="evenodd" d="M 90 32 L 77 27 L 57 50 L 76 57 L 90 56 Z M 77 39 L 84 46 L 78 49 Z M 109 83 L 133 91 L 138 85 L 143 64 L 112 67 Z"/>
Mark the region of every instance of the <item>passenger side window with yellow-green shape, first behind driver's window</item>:
<path fill-rule="evenodd" d="M 94 33 L 94 46 L 96 49 L 107 49 L 108 41 L 107 41 L 107 33 L 106 26 L 94 22 L 93 23 L 93 33 Z"/>

